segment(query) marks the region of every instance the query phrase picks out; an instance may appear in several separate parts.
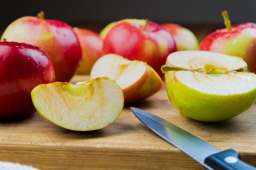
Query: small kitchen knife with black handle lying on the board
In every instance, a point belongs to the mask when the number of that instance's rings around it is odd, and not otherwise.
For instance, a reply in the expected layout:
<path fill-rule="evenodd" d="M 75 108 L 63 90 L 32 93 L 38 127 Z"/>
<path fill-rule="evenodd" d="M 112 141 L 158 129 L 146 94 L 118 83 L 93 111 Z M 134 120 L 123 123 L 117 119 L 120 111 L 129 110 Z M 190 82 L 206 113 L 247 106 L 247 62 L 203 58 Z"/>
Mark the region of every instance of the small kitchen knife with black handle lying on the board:
<path fill-rule="evenodd" d="M 221 151 L 169 121 L 138 108 L 130 109 L 153 132 L 198 161 L 207 170 L 256 170 L 254 166 L 241 161 L 239 153 L 233 149 Z"/>

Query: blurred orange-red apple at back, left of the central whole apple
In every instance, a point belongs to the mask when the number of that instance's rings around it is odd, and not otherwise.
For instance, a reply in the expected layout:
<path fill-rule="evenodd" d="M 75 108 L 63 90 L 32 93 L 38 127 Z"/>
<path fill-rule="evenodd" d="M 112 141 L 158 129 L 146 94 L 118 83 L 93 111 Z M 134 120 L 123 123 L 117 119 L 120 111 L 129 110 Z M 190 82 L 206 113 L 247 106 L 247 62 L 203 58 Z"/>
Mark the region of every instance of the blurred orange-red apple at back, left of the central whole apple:
<path fill-rule="evenodd" d="M 82 48 L 82 62 L 77 73 L 90 75 L 93 64 L 101 57 L 103 40 L 94 31 L 78 27 L 73 29 Z"/>

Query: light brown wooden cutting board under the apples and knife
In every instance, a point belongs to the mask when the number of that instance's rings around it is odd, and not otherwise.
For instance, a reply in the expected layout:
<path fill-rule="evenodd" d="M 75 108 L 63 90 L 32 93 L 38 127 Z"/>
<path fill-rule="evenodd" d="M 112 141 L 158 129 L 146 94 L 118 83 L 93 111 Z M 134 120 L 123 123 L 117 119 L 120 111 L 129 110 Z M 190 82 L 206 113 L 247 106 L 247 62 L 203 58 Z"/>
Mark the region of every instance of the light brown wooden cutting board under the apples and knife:
<path fill-rule="evenodd" d="M 76 75 L 72 83 L 88 76 Z M 106 128 L 75 132 L 58 127 L 38 113 L 27 119 L 0 122 L 0 161 L 40 170 L 203 170 L 192 158 L 142 124 L 130 106 L 144 109 L 191 132 L 220 150 L 233 148 L 256 166 L 256 105 L 218 123 L 182 117 L 165 89 L 137 104 L 127 104 Z"/>

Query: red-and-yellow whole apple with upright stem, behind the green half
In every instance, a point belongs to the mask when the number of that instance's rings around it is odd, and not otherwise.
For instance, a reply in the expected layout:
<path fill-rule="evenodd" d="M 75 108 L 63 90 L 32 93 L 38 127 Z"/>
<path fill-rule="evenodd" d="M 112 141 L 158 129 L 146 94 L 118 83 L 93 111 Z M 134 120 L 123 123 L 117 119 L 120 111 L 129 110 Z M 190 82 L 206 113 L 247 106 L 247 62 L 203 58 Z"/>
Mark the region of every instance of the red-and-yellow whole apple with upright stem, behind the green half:
<path fill-rule="evenodd" d="M 256 28 L 252 23 L 232 27 L 227 11 L 223 11 L 222 15 L 227 28 L 207 35 L 200 43 L 199 49 L 242 57 L 248 64 L 248 70 L 256 73 Z"/>

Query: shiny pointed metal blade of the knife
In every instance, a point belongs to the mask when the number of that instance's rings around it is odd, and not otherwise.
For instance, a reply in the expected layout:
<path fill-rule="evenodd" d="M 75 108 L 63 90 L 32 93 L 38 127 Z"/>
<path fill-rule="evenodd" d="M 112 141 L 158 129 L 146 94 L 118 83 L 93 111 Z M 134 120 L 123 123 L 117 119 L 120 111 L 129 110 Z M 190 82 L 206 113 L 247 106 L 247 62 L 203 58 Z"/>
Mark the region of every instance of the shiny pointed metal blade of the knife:
<path fill-rule="evenodd" d="M 153 132 L 201 163 L 205 168 L 212 170 L 212 168 L 204 164 L 204 159 L 221 150 L 171 124 L 169 121 L 144 110 L 134 107 L 130 108 L 134 115 Z"/>

